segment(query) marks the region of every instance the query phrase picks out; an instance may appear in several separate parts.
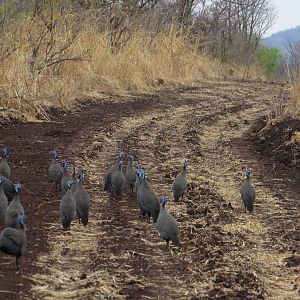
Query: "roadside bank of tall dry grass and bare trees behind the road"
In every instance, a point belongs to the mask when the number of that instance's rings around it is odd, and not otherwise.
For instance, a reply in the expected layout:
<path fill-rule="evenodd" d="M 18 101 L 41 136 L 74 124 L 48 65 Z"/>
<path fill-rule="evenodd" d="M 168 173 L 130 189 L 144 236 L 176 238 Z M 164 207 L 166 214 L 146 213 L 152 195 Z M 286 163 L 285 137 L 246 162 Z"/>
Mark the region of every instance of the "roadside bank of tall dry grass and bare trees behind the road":
<path fill-rule="evenodd" d="M 264 78 L 273 7 L 231 1 L 1 1 L 0 105 L 26 118 L 99 92 Z"/>

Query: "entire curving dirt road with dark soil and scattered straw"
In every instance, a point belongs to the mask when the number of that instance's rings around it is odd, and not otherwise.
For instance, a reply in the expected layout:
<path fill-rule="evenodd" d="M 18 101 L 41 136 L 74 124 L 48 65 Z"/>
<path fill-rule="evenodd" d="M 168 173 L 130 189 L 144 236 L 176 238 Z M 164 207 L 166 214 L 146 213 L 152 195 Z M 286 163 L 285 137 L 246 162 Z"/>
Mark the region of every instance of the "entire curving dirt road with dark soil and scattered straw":
<path fill-rule="evenodd" d="M 52 122 L 0 129 L 12 177 L 24 186 L 28 223 L 21 274 L 0 255 L 0 298 L 300 299 L 299 190 L 249 139 L 280 89 L 204 82 L 155 95 L 107 95 Z M 70 232 L 61 230 L 60 195 L 47 178 L 52 149 L 86 173 L 86 228 L 75 221 Z M 157 195 L 170 200 L 181 251 L 164 251 L 129 191 L 121 201 L 103 191 L 120 149 L 137 157 Z M 189 191 L 175 205 L 171 183 L 184 159 Z M 245 166 L 254 170 L 257 191 L 251 215 L 239 196 Z"/>

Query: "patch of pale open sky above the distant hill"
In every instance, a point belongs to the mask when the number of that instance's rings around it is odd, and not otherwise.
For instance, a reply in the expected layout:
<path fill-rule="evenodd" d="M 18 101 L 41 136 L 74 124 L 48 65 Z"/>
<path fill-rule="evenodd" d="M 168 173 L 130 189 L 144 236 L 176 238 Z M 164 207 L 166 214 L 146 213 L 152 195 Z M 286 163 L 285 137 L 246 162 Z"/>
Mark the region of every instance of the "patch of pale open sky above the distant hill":
<path fill-rule="evenodd" d="M 300 25 L 300 0 L 272 0 L 276 9 L 277 17 L 274 25 L 265 36 L 272 33 L 296 27 Z"/>

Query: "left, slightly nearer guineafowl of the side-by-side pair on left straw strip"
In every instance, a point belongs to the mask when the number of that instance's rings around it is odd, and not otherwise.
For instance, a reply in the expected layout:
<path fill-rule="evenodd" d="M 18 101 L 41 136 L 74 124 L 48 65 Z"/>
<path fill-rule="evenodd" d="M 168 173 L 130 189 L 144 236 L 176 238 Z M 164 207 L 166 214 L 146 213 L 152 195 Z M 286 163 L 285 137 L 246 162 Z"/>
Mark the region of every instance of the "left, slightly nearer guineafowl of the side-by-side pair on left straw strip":
<path fill-rule="evenodd" d="M 72 184 L 73 180 L 69 180 L 67 183 L 68 190 L 62 197 L 59 204 L 61 220 L 64 230 L 70 229 L 70 225 L 76 211 L 76 202 L 71 191 Z"/>

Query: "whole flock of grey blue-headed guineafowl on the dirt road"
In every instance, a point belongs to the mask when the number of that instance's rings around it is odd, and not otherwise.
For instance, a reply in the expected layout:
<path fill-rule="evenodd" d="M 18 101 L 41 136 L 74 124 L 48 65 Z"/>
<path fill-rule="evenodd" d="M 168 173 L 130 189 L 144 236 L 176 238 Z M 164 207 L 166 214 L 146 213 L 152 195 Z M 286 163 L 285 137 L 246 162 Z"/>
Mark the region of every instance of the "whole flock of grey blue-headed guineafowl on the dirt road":
<path fill-rule="evenodd" d="M 51 152 L 52 162 L 49 167 L 49 179 L 56 185 L 62 198 L 59 205 L 62 227 L 70 230 L 70 225 L 77 214 L 79 221 L 86 226 L 89 220 L 90 197 L 84 186 L 84 174 L 75 173 L 75 168 L 69 172 L 66 161 L 58 161 L 55 151 Z M 26 248 L 25 213 L 21 204 L 21 185 L 13 184 L 10 180 L 11 169 L 8 164 L 8 151 L 1 151 L 0 162 L 0 223 L 4 221 L 5 228 L 0 234 L 0 251 L 16 257 L 16 267 L 19 271 L 19 258 Z M 166 241 L 166 249 L 172 241 L 180 247 L 179 226 L 176 219 L 167 211 L 165 196 L 161 201 L 156 196 L 151 184 L 145 176 L 139 163 L 134 164 L 134 157 L 128 156 L 126 170 L 123 170 L 125 153 L 118 154 L 117 161 L 108 169 L 104 176 L 104 190 L 112 192 L 116 199 L 122 197 L 126 184 L 130 187 L 132 195 L 136 195 L 140 216 L 151 219 L 157 225 L 162 239 Z M 187 161 L 184 161 L 180 172 L 175 177 L 172 190 L 174 201 L 178 202 L 187 192 L 188 182 L 186 172 Z M 251 170 L 246 170 L 245 181 L 241 186 L 241 198 L 245 206 L 245 213 L 253 211 L 255 190 L 251 184 Z"/>

